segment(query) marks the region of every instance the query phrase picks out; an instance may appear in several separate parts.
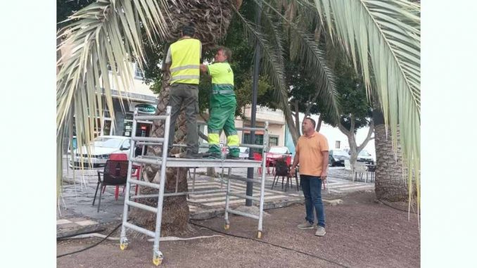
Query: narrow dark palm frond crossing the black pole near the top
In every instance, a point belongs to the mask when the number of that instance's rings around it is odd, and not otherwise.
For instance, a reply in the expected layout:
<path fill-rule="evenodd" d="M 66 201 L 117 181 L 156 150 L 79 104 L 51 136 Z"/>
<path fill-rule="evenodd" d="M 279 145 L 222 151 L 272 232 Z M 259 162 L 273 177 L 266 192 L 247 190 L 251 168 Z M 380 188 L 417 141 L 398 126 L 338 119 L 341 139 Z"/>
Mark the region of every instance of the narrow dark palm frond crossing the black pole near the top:
<path fill-rule="evenodd" d="M 274 46 L 270 44 L 267 36 L 260 30 L 257 30 L 257 26 L 250 23 L 250 21 L 243 18 L 243 15 L 236 10 L 233 6 L 238 18 L 243 22 L 243 29 L 250 39 L 255 39 L 260 44 L 260 52 L 263 55 L 261 69 L 264 70 L 271 78 L 272 85 L 274 86 L 274 97 L 278 100 L 277 104 L 281 110 L 283 110 L 285 117 L 291 116 L 290 106 L 288 106 L 288 89 L 285 83 L 285 68 L 284 58 L 281 51 L 274 49 Z"/>

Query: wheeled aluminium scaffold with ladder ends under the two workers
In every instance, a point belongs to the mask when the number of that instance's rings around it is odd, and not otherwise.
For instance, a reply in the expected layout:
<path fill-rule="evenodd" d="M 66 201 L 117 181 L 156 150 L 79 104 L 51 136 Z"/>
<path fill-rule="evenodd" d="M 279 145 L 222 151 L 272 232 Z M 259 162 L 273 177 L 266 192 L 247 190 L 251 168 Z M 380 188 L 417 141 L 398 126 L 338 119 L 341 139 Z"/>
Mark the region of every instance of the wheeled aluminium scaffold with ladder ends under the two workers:
<path fill-rule="evenodd" d="M 170 113 L 171 107 L 167 106 L 166 108 L 166 115 L 139 115 L 139 112 L 136 108 L 134 111 L 134 117 L 132 122 L 132 139 L 131 139 L 131 150 L 129 152 L 129 163 L 128 163 L 128 172 L 127 172 L 127 183 L 126 183 L 126 193 L 125 193 L 125 205 L 122 211 L 122 227 L 121 227 L 121 234 L 120 234 L 120 249 L 125 250 L 129 245 L 129 241 L 127 240 L 126 231 L 127 229 L 132 229 L 134 231 L 138 231 L 141 234 L 146 234 L 147 236 L 151 236 L 154 238 L 154 245 L 153 245 L 153 264 L 160 265 L 163 262 L 164 255 L 159 250 L 159 243 L 160 243 L 160 227 L 162 224 L 162 215 L 163 215 L 163 200 L 166 196 L 182 196 L 188 195 L 189 193 L 193 194 L 201 194 L 201 193 L 218 193 L 218 192 L 226 192 L 225 196 L 225 213 L 224 213 L 224 229 L 228 230 L 230 226 L 229 222 L 229 213 L 241 215 L 244 217 L 250 217 L 252 219 L 258 220 L 258 227 L 257 227 L 257 238 L 262 237 L 262 223 L 263 223 L 263 203 L 265 198 L 265 172 L 262 172 L 262 176 L 260 178 L 260 197 L 253 197 L 243 195 L 241 193 L 236 193 L 231 191 L 231 179 L 236 179 L 240 181 L 253 181 L 254 183 L 258 183 L 253 179 L 246 179 L 241 177 L 227 177 L 227 190 L 217 189 L 217 190 L 205 190 L 205 191 L 186 191 L 186 192 L 178 192 L 178 185 L 176 181 L 176 190 L 174 193 L 164 193 L 164 186 L 165 186 L 165 171 L 166 167 L 222 167 L 222 173 L 224 167 L 232 168 L 232 167 L 261 167 L 262 170 L 265 170 L 265 151 L 267 150 L 267 143 L 268 143 L 268 122 L 265 122 L 265 127 L 237 127 L 237 130 L 248 130 L 248 131 L 263 131 L 264 132 L 264 145 L 255 145 L 255 144 L 244 144 L 241 143 L 240 146 L 248 147 L 248 148 L 260 148 L 262 149 L 262 160 L 231 160 L 231 159 L 186 159 L 186 158 L 167 158 L 167 150 L 168 150 L 168 142 L 169 142 L 169 132 L 170 132 Z M 165 131 L 163 138 L 156 138 L 156 137 L 139 137 L 136 136 L 136 127 L 138 120 L 164 120 L 165 121 Z M 162 157 L 156 157 L 151 155 L 138 155 L 134 156 L 134 148 L 136 145 L 141 146 L 163 146 Z M 144 153 L 144 148 L 143 148 Z M 160 166 L 160 182 L 159 184 L 151 183 L 148 181 L 141 181 L 140 179 L 132 179 L 132 163 L 141 163 L 141 164 L 148 164 L 148 165 L 158 165 Z M 222 179 L 222 178 L 221 178 Z M 222 179 L 223 181 L 223 179 Z M 194 171 L 194 182 L 195 182 L 195 171 Z M 158 189 L 158 194 L 152 195 L 135 195 L 129 196 L 129 192 L 131 189 L 131 185 L 136 184 L 136 186 L 147 186 L 153 189 Z M 222 187 L 221 187 L 222 188 Z M 259 215 L 253 215 L 246 212 L 241 212 L 239 210 L 232 210 L 229 208 L 230 202 L 229 197 L 236 196 L 239 198 L 245 198 L 249 200 L 255 200 L 259 202 Z M 158 207 L 153 208 L 149 205 L 144 205 L 141 203 L 137 203 L 136 199 L 139 198 L 158 198 Z M 132 201 L 134 199 L 134 201 Z M 129 211 L 129 206 L 134 208 L 139 208 L 141 210 L 146 210 L 149 212 L 156 213 L 156 220 L 155 220 L 155 231 L 150 231 L 148 229 L 144 229 L 140 226 L 136 226 L 127 222 L 127 216 Z"/>

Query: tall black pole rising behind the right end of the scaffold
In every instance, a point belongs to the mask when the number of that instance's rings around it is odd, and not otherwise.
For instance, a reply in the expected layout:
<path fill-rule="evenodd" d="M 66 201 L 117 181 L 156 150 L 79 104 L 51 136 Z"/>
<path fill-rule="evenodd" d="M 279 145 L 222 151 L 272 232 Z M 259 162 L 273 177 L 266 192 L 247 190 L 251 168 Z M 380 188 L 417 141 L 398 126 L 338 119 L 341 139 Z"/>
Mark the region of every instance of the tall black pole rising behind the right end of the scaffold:
<path fill-rule="evenodd" d="M 260 20 L 262 17 L 262 1 L 258 1 L 257 4 L 257 9 L 255 9 L 255 24 L 260 26 Z M 257 43 L 255 44 L 255 63 L 253 65 L 253 93 L 252 93 L 252 111 L 250 112 L 250 123 L 251 127 L 255 127 L 255 120 L 256 120 L 256 114 L 257 114 L 257 88 L 258 88 L 258 69 L 260 66 L 260 44 Z M 250 131 L 250 143 L 255 144 L 255 131 L 252 130 Z M 248 151 L 248 157 L 253 158 L 253 151 L 250 148 Z M 265 170 L 262 170 L 262 172 L 265 172 Z M 247 169 L 247 178 L 248 179 L 253 179 L 253 167 L 248 167 Z M 246 191 L 247 196 L 252 196 L 253 195 L 253 182 L 247 181 L 247 191 Z M 245 205 L 250 207 L 252 205 L 252 200 L 245 200 Z"/>

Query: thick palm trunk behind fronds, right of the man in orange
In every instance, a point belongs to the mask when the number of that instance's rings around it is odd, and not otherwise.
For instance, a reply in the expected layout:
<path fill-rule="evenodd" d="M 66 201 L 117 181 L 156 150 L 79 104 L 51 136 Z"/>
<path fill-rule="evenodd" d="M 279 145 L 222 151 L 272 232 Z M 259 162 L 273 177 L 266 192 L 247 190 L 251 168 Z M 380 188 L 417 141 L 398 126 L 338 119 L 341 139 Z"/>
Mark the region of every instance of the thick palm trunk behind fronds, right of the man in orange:
<path fill-rule="evenodd" d="M 376 146 L 376 183 L 374 191 L 376 198 L 390 202 L 406 201 L 407 194 L 407 172 L 402 163 L 402 153 L 400 142 L 396 157 L 393 153 L 393 141 L 390 132 L 386 133 L 383 114 L 381 110 L 374 109 L 374 144 Z M 399 139 L 398 129 L 398 139 Z M 404 174 L 404 176 L 403 176 Z"/>

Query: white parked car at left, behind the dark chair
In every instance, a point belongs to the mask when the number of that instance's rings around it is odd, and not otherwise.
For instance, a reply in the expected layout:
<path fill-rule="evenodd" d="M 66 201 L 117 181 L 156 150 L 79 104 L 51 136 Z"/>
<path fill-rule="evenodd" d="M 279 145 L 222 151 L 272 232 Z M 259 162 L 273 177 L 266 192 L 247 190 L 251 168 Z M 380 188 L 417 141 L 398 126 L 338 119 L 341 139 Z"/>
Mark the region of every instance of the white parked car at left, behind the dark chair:
<path fill-rule="evenodd" d="M 87 155 L 87 148 L 83 146 L 74 150 L 74 159 L 70 162 L 70 167 L 79 167 L 83 162 L 83 167 L 104 167 L 111 153 L 125 153 L 129 158 L 131 138 L 127 136 L 98 136 L 91 144 L 90 155 Z M 82 154 L 82 155 L 81 155 Z"/>

